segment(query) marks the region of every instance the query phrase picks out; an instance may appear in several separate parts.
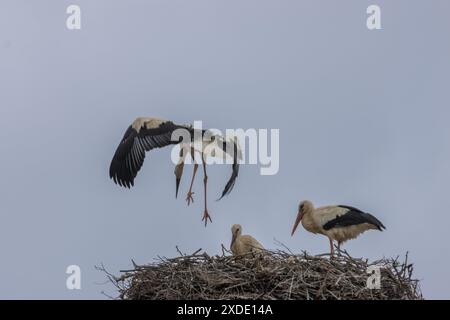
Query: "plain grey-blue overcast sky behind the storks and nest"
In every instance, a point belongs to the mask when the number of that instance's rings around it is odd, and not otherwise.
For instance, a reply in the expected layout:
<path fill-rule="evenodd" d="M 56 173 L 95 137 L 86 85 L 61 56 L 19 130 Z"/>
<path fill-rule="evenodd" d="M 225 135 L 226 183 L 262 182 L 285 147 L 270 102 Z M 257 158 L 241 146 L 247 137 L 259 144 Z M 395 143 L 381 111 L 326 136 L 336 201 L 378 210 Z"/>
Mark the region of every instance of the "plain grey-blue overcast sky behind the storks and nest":
<path fill-rule="evenodd" d="M 82 29 L 66 28 L 78 4 Z M 369 31 L 366 8 L 381 7 Z M 265 247 L 320 254 L 290 229 L 300 200 L 348 204 L 386 225 L 353 256 L 410 253 L 427 298 L 450 298 L 450 2 L 151 0 L 0 2 L 0 298 L 104 298 L 110 271 L 229 245 L 230 227 Z M 209 168 L 186 206 L 170 148 L 147 155 L 135 188 L 108 177 L 127 126 L 157 116 L 280 129 L 280 170 Z M 201 172 L 201 171 L 200 171 Z M 66 267 L 82 270 L 66 289 Z"/>

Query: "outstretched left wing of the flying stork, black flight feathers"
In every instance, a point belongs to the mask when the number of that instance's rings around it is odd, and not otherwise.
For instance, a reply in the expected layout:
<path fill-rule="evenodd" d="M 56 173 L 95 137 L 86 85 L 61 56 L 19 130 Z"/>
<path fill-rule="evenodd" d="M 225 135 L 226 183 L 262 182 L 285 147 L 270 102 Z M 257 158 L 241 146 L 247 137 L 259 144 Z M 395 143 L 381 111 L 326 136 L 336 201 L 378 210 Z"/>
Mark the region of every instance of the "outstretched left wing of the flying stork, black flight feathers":
<path fill-rule="evenodd" d="M 138 121 L 139 120 L 139 121 Z M 185 128 L 172 121 L 142 121 L 137 119 L 125 132 L 109 167 L 109 177 L 123 187 L 134 185 L 134 178 L 144 163 L 145 152 L 179 141 L 171 141 L 172 132 Z"/>

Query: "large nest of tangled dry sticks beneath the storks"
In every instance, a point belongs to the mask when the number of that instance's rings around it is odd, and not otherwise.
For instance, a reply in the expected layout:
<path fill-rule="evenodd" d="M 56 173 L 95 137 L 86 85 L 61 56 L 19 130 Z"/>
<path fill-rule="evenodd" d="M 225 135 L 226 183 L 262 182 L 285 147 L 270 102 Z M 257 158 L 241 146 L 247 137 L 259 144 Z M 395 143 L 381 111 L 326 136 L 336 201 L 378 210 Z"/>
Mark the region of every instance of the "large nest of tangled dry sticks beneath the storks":
<path fill-rule="evenodd" d="M 422 299 L 413 266 L 383 258 L 369 263 L 345 251 L 337 257 L 264 251 L 241 257 L 192 255 L 158 258 L 150 265 L 108 273 L 119 299 Z M 369 266 L 379 266 L 381 288 L 367 286 Z"/>

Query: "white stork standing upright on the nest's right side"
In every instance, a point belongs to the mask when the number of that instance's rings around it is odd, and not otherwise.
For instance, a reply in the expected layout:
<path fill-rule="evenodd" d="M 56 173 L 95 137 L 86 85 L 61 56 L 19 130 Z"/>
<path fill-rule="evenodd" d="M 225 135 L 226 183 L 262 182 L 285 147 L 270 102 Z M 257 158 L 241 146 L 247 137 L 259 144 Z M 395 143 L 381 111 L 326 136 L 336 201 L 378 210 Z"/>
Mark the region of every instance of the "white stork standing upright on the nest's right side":
<path fill-rule="evenodd" d="M 334 255 L 333 240 L 338 242 L 338 250 L 340 250 L 341 243 L 354 239 L 367 230 L 383 231 L 385 229 L 380 220 L 357 208 L 338 205 L 315 209 L 312 202 L 307 200 L 299 204 L 291 236 L 294 235 L 300 221 L 303 228 L 309 232 L 320 233 L 328 237 L 331 256 Z"/>

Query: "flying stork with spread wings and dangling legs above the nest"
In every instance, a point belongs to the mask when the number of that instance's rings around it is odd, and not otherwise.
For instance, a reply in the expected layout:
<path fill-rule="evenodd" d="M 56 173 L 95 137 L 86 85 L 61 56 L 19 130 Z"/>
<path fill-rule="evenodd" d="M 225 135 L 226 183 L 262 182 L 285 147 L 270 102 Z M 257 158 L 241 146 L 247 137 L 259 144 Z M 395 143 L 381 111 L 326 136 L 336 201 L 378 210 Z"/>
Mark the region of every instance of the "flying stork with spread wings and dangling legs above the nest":
<path fill-rule="evenodd" d="M 172 141 L 172 133 L 177 129 L 188 130 L 190 133 L 191 141 L 182 141 L 181 137 L 179 141 Z M 190 153 L 192 159 L 194 159 L 195 152 L 199 153 L 201 155 L 203 165 L 203 184 L 205 196 L 205 210 L 203 213 L 202 221 L 205 221 L 206 226 L 208 219 L 209 221 L 211 221 L 211 217 L 208 214 L 206 196 L 208 181 L 208 176 L 206 174 L 206 157 L 223 157 L 224 155 L 228 155 L 233 159 L 232 174 L 222 192 L 222 196 L 220 197 L 221 199 L 223 196 L 228 195 L 234 187 L 234 183 L 239 173 L 238 160 L 241 159 L 242 153 L 236 139 L 225 140 L 220 135 L 210 135 L 210 140 L 205 141 L 205 133 L 207 132 L 207 130 L 201 130 L 201 132 L 197 132 L 198 134 L 195 134 L 196 130 L 200 131 L 199 129 L 192 128 L 192 126 L 177 125 L 168 120 L 146 117 L 137 118 L 125 131 L 125 134 L 116 149 L 109 168 L 110 178 L 113 179 L 116 184 L 130 188 L 131 186 L 134 186 L 134 179 L 136 178 L 137 173 L 144 163 L 146 151 L 150 151 L 154 148 L 162 148 L 169 145 L 181 144 L 180 159 L 178 161 L 178 164 L 175 166 L 174 172 L 176 177 L 175 195 L 178 195 L 178 187 L 180 184 L 181 176 L 183 174 L 184 160 L 187 154 Z M 195 137 L 198 136 L 200 137 L 200 139 L 202 139 L 202 141 L 200 141 L 201 149 L 196 149 L 198 143 L 195 143 L 194 141 Z M 217 143 L 217 146 L 221 150 L 223 150 L 223 153 L 218 152 L 219 150 L 215 148 L 206 149 L 206 146 L 211 142 Z M 231 144 L 232 148 L 227 147 L 228 144 Z M 206 150 L 212 150 L 214 154 L 205 152 Z M 194 183 L 197 168 L 198 164 L 195 163 L 191 185 L 186 197 L 188 205 L 191 201 L 193 201 L 192 185 Z"/>

